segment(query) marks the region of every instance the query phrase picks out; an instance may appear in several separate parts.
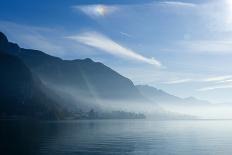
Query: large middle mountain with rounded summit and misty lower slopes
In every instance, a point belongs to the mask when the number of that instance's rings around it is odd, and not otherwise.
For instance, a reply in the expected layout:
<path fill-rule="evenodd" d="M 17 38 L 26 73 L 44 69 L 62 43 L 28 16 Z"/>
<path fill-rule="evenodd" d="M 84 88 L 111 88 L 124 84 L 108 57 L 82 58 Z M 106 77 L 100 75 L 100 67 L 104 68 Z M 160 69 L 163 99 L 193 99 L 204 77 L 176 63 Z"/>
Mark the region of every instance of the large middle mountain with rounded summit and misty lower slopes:
<path fill-rule="evenodd" d="M 49 99 L 69 112 L 101 111 L 112 106 L 111 110 L 121 110 L 122 105 L 149 102 L 131 80 L 89 58 L 62 60 L 39 50 L 20 48 L 3 33 L 0 50 L 18 58 L 40 81 Z"/>

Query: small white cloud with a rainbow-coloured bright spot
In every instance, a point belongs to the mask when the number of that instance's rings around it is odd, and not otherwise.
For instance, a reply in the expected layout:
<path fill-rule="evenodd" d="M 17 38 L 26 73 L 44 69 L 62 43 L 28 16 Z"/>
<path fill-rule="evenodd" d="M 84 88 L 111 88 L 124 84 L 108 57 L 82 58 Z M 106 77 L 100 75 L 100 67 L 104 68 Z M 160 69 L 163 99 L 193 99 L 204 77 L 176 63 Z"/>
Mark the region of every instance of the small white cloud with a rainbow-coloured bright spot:
<path fill-rule="evenodd" d="M 90 17 L 103 17 L 103 16 L 110 15 L 116 12 L 117 10 L 119 10 L 119 7 L 117 6 L 102 5 L 102 4 L 75 5 L 75 6 L 72 6 L 72 8 L 75 10 L 79 10 Z"/>

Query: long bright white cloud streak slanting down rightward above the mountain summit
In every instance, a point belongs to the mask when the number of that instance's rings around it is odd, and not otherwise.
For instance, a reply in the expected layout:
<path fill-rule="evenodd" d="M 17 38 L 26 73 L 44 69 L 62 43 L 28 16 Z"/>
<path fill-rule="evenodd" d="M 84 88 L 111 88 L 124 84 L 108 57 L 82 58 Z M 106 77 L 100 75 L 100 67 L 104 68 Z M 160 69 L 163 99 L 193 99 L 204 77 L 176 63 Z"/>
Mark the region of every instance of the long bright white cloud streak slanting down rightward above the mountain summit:
<path fill-rule="evenodd" d="M 146 58 L 135 51 L 132 51 L 119 43 L 111 40 L 110 38 L 97 33 L 97 32 L 85 32 L 80 35 L 74 35 L 67 37 L 69 39 L 75 40 L 84 45 L 100 49 L 104 52 L 110 53 L 115 56 L 122 57 L 124 59 L 132 59 L 140 62 L 145 62 L 148 64 L 161 67 L 161 63 L 155 58 Z"/>

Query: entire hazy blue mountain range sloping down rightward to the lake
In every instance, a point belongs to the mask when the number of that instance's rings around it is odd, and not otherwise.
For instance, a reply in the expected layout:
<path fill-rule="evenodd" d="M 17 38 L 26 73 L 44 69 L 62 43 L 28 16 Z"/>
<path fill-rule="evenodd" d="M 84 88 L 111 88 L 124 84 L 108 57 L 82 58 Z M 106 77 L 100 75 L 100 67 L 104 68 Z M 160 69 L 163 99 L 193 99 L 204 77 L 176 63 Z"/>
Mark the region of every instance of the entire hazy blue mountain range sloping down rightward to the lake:
<path fill-rule="evenodd" d="M 38 50 L 20 48 L 1 32 L 0 73 L 0 117 L 62 119 L 92 109 L 99 112 L 102 105 L 149 104 L 159 109 L 164 104 L 208 104 L 146 85 L 135 86 L 128 78 L 89 58 L 62 60 Z"/>

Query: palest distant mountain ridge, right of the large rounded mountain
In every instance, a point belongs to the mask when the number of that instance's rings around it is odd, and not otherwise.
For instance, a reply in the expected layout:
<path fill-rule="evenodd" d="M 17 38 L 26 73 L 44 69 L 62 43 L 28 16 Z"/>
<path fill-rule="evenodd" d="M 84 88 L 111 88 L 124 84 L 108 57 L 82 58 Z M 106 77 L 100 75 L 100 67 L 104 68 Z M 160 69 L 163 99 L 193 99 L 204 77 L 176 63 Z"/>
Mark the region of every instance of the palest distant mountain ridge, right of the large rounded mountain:
<path fill-rule="evenodd" d="M 146 98 L 155 101 L 159 105 L 179 105 L 179 106 L 202 106 L 210 105 L 208 101 L 199 100 L 194 97 L 180 98 L 171 95 L 163 90 L 148 86 L 137 85 L 137 89 Z"/>

